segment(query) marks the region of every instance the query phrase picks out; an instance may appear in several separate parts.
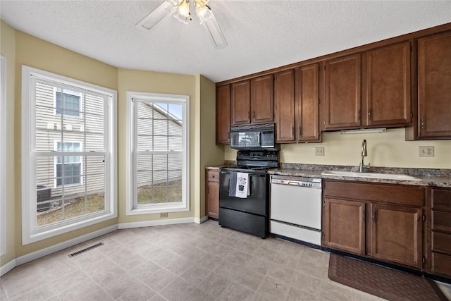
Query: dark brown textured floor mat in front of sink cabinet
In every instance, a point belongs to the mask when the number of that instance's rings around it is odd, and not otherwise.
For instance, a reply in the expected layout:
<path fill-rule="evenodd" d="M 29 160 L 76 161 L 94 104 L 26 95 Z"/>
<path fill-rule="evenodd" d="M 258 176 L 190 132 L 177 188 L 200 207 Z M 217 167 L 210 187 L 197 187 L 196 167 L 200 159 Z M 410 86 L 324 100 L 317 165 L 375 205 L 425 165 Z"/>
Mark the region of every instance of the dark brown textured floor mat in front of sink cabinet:
<path fill-rule="evenodd" d="M 386 300 L 447 301 L 431 280 L 358 259 L 330 254 L 329 278 Z"/>

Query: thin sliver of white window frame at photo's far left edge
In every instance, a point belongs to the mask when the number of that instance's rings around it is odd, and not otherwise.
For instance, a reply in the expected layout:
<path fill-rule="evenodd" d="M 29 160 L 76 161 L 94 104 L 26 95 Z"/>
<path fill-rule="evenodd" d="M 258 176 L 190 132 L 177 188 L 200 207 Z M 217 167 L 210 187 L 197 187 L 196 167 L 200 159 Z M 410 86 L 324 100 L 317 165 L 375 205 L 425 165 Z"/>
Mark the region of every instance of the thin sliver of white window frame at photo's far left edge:
<path fill-rule="evenodd" d="M 0 256 L 6 253 L 6 58 L 0 56 Z"/>

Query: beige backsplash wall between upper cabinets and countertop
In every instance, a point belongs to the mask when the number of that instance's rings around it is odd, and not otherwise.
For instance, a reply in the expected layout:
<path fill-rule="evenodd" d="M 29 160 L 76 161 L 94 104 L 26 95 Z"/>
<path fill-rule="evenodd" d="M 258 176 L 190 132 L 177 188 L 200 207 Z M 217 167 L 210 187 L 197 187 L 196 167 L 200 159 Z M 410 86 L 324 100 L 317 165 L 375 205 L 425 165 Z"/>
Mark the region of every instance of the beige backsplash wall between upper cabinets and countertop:
<path fill-rule="evenodd" d="M 281 145 L 280 162 L 358 166 L 362 140 L 366 139 L 368 157 L 365 164 L 378 167 L 451 168 L 451 140 L 405 141 L 404 129 L 388 129 L 386 133 L 340 135 L 323 133 L 321 143 Z M 419 157 L 419 146 L 433 146 L 435 156 Z M 324 147 L 324 156 L 315 156 L 315 147 Z M 236 152 L 226 147 L 226 160 L 235 160 Z"/>

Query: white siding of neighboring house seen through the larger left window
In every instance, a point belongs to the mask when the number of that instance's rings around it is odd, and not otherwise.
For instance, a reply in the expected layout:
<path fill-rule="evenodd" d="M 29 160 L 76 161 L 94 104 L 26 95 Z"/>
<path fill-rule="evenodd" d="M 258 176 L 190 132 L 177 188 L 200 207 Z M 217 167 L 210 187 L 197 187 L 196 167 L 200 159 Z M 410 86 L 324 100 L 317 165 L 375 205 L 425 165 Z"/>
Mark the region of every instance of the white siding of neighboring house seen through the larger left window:
<path fill-rule="evenodd" d="M 57 142 L 78 142 L 80 152 L 93 152 L 89 155 L 74 154 L 80 156 L 81 180 L 80 184 L 57 185 L 56 158 L 51 154 L 39 155 L 36 161 L 37 185 L 51 188 L 52 199 L 76 197 L 90 193 L 105 191 L 105 166 L 104 156 L 94 152 L 104 151 L 104 97 L 92 93 L 80 92 L 80 114 L 68 116 L 56 111 L 54 85 L 37 82 L 36 85 L 36 152 L 54 152 Z M 61 87 L 61 90 L 64 87 Z M 69 92 L 70 93 L 70 92 Z M 62 110 L 63 112 L 63 110 Z M 64 151 L 64 150 L 63 150 Z M 66 156 L 65 161 L 70 157 Z M 61 180 L 59 180 L 61 183 Z M 64 186 L 64 189 L 63 189 Z"/>

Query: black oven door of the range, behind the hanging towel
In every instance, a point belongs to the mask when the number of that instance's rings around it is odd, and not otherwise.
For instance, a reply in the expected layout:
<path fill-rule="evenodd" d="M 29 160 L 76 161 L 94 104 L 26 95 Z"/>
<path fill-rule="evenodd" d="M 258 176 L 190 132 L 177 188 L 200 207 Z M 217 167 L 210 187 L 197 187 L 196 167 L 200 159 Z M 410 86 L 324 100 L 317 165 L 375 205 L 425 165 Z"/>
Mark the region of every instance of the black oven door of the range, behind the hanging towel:
<path fill-rule="evenodd" d="M 219 176 L 219 208 L 266 216 L 269 209 L 267 178 L 266 173 L 249 173 L 250 192 L 245 199 L 242 199 L 229 196 L 230 171 L 221 171 Z"/>

